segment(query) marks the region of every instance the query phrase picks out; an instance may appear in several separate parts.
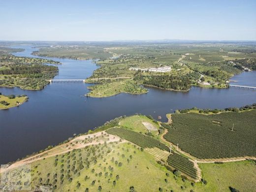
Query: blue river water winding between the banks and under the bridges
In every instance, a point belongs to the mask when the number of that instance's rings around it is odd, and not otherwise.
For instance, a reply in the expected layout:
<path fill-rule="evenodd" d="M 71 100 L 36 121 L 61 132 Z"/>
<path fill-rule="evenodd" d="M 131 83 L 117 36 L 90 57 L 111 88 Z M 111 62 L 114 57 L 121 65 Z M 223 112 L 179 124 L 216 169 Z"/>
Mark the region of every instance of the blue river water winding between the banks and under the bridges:
<path fill-rule="evenodd" d="M 30 46 L 16 56 L 32 56 Z M 40 57 L 45 58 L 45 57 Z M 60 61 L 55 79 L 85 79 L 97 68 L 91 60 L 48 58 Z M 233 77 L 236 78 L 237 76 Z M 251 85 L 256 72 L 240 74 L 240 82 Z M 0 163 L 24 157 L 56 145 L 74 133 L 84 133 L 122 115 L 150 114 L 157 119 L 176 109 L 241 107 L 256 102 L 256 91 L 244 89 L 204 89 L 192 87 L 189 92 L 164 91 L 149 88 L 143 95 L 119 94 L 106 98 L 84 95 L 91 84 L 52 83 L 41 91 L 3 88 L 5 95 L 26 94 L 29 101 L 9 110 L 0 110 Z"/>

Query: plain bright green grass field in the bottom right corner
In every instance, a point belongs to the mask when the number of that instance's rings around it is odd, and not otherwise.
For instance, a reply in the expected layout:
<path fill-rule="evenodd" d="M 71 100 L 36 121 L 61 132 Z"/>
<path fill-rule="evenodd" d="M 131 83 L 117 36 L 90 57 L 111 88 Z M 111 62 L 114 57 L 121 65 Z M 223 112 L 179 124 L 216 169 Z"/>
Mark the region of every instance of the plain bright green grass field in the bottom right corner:
<path fill-rule="evenodd" d="M 203 178 L 207 181 L 207 192 L 230 192 L 229 187 L 240 192 L 253 192 L 256 189 L 256 162 L 237 161 L 224 164 L 199 163 Z M 201 184 L 198 184 L 198 186 Z M 203 191 L 197 189 L 196 191 Z"/>

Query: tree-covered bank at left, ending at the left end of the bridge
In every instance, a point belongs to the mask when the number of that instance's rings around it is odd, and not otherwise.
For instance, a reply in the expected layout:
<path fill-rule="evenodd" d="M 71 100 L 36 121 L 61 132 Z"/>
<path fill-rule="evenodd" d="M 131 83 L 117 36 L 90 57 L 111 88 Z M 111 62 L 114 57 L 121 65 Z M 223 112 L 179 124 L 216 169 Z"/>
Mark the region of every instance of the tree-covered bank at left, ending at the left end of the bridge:
<path fill-rule="evenodd" d="M 20 87 L 26 90 L 41 90 L 58 73 L 60 64 L 53 60 L 16 57 L 8 53 L 0 54 L 0 86 Z"/>

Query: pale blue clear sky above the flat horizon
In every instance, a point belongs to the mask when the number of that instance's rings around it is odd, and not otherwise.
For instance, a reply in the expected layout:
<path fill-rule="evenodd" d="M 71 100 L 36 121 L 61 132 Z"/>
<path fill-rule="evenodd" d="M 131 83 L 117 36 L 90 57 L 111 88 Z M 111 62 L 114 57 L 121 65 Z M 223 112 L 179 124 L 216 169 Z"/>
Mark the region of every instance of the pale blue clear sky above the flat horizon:
<path fill-rule="evenodd" d="M 256 40 L 256 0 L 0 0 L 0 40 Z"/>

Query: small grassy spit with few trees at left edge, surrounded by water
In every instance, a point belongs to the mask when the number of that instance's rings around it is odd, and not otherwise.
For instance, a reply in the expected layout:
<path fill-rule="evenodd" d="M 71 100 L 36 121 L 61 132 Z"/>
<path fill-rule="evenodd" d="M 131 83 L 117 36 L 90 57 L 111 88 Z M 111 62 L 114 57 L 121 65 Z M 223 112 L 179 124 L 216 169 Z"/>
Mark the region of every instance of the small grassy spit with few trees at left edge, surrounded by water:
<path fill-rule="evenodd" d="M 26 102 L 29 99 L 28 96 L 26 95 L 9 95 L 9 96 L 4 96 L 0 93 L 0 110 L 1 109 L 9 109 L 12 107 L 18 107 L 24 102 Z"/>

